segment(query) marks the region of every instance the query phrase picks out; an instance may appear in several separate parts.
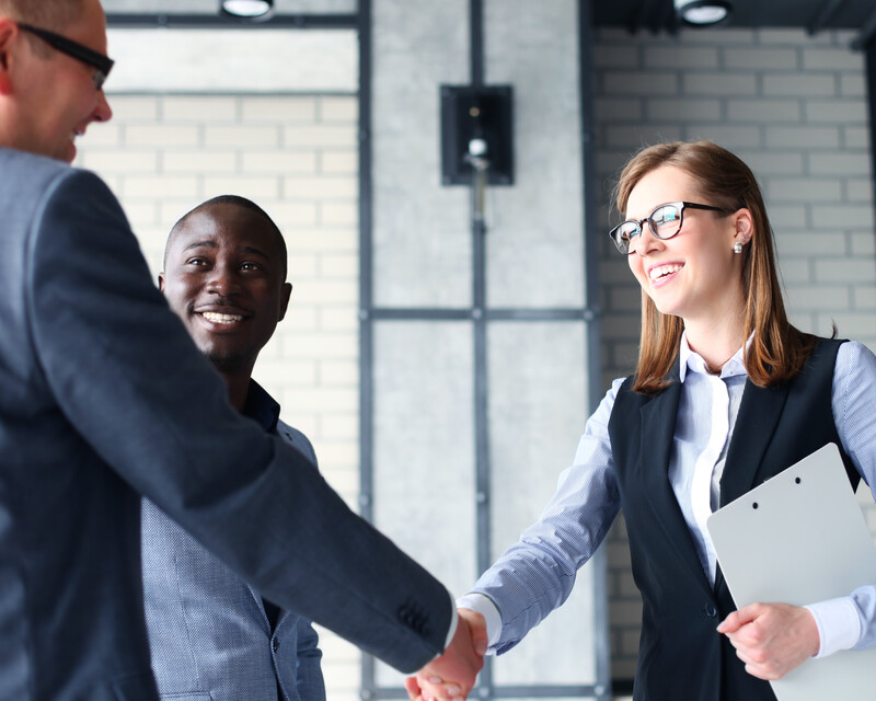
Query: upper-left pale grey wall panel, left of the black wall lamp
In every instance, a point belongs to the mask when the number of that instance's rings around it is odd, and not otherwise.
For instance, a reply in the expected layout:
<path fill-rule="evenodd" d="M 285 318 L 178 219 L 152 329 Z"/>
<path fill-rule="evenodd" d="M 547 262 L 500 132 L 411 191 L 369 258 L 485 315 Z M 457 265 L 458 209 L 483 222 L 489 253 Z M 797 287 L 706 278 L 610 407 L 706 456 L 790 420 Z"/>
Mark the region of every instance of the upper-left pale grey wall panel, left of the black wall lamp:
<path fill-rule="evenodd" d="M 441 186 L 439 85 L 469 82 L 466 0 L 373 2 L 378 307 L 468 307 L 469 188 Z"/>

